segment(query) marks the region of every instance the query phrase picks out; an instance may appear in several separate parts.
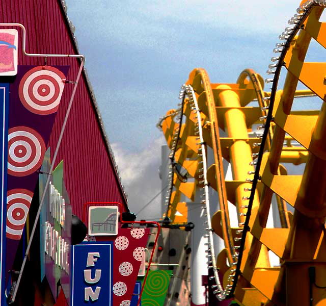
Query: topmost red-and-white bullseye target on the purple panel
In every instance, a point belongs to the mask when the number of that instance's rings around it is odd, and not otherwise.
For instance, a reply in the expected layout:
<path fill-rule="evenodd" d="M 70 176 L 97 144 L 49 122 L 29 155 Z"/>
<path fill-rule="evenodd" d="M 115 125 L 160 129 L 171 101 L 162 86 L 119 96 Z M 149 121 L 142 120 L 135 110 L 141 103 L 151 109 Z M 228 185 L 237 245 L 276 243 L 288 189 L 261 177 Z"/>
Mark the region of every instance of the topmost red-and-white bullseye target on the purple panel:
<path fill-rule="evenodd" d="M 24 74 L 19 83 L 22 105 L 34 114 L 48 115 L 58 110 L 65 75 L 50 66 L 35 67 Z"/>

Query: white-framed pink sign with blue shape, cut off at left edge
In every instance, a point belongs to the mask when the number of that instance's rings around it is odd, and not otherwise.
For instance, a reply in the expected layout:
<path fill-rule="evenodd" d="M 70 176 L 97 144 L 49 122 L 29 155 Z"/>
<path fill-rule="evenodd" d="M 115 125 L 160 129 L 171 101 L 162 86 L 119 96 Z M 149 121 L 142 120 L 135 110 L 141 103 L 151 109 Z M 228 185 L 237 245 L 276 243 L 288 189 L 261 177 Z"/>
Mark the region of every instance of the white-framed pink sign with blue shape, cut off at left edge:
<path fill-rule="evenodd" d="M 18 62 L 18 31 L 0 30 L 0 75 L 16 75 Z"/>

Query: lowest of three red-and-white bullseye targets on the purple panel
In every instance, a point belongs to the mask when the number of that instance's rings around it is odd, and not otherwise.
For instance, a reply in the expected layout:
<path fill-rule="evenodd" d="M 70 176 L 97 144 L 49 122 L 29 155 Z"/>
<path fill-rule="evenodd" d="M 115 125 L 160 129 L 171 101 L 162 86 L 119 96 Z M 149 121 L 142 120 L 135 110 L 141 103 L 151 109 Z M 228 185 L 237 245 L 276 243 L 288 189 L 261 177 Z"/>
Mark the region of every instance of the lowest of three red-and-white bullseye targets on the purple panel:
<path fill-rule="evenodd" d="M 7 193 L 7 230 L 8 238 L 19 240 L 28 215 L 33 192 L 26 189 L 12 189 Z"/>

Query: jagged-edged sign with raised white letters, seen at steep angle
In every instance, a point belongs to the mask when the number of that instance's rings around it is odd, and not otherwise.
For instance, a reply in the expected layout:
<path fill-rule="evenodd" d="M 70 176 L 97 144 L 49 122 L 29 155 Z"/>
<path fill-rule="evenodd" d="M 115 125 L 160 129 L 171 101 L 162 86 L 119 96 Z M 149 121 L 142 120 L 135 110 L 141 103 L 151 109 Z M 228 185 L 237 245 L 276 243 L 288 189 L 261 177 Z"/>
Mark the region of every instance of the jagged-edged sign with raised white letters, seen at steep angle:
<path fill-rule="evenodd" d="M 39 174 L 40 198 L 50 167 L 50 149 L 46 151 Z M 70 296 L 71 206 L 63 181 L 63 161 L 52 172 L 51 182 L 40 214 L 41 282 L 46 276 L 53 298 L 60 282 L 64 295 Z"/>

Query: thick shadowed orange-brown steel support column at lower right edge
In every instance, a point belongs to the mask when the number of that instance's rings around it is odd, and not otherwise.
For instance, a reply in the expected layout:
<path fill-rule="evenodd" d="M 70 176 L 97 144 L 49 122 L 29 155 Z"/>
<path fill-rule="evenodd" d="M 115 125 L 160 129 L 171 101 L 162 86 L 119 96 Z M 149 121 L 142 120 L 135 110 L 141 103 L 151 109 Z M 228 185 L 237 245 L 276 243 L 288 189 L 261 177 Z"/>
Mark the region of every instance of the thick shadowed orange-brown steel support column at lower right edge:
<path fill-rule="evenodd" d="M 321 108 L 285 252 L 286 305 L 326 304 L 326 105 Z M 315 278 L 308 271 L 315 270 Z M 300 282 L 297 281 L 300 279 Z M 316 285 L 324 288 L 318 288 Z M 300 294 L 298 294 L 300 292 Z M 304 302 L 303 302 L 304 301 Z"/>

